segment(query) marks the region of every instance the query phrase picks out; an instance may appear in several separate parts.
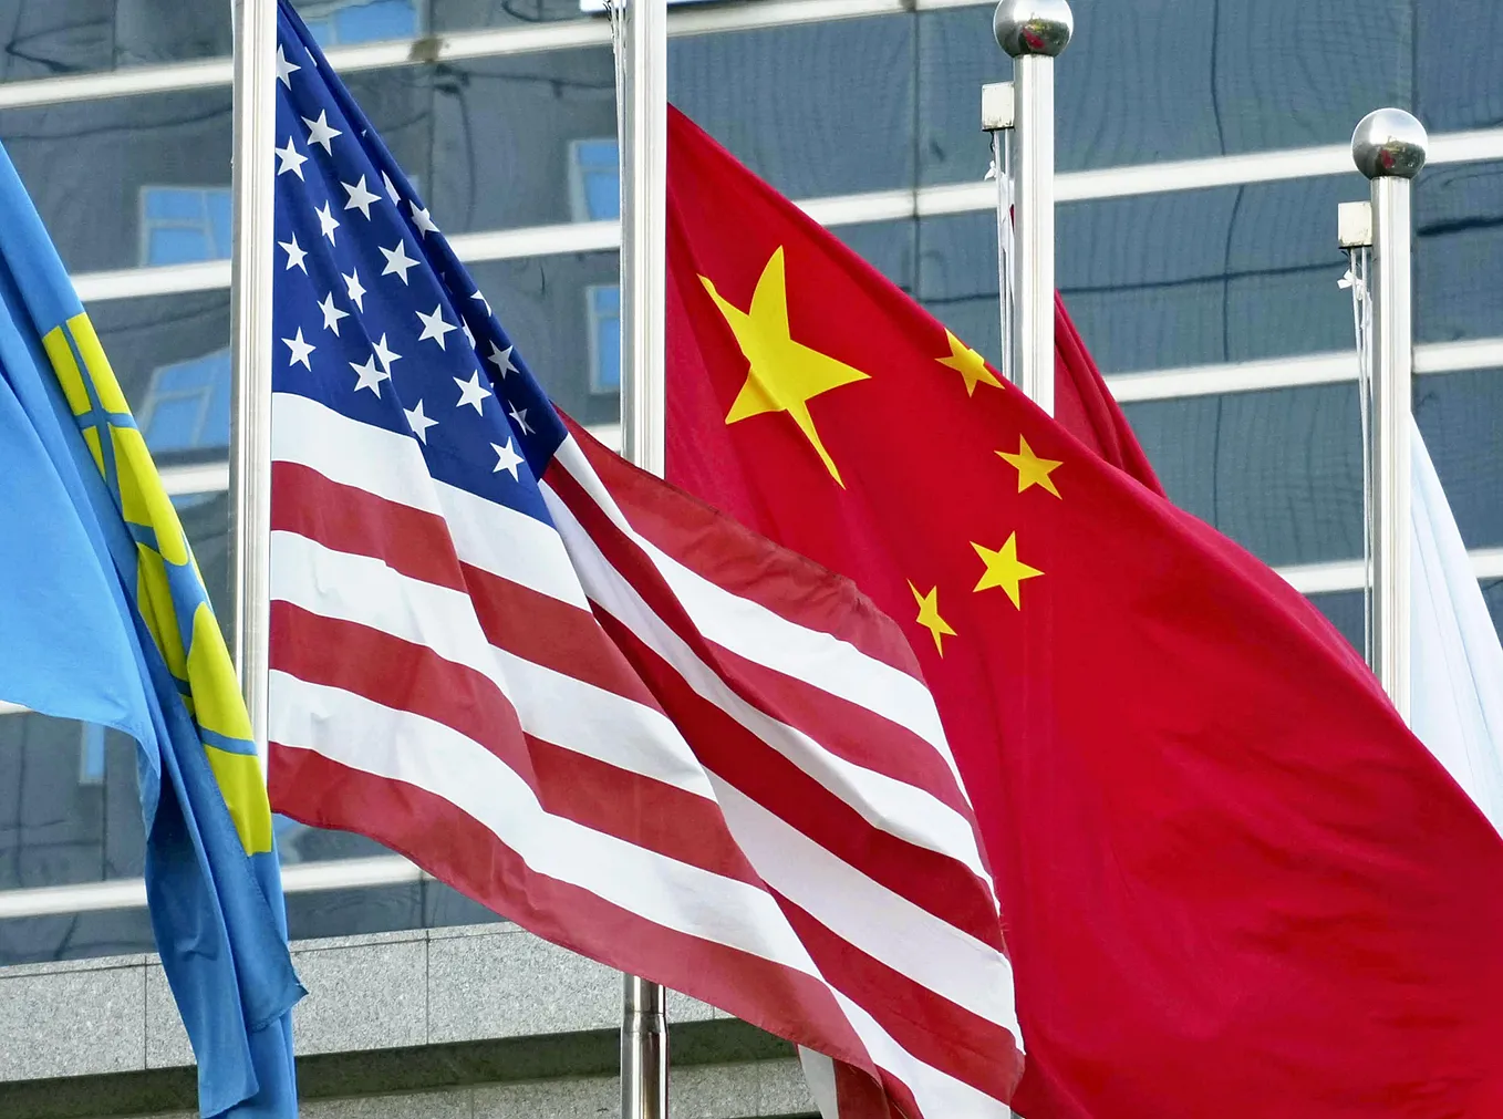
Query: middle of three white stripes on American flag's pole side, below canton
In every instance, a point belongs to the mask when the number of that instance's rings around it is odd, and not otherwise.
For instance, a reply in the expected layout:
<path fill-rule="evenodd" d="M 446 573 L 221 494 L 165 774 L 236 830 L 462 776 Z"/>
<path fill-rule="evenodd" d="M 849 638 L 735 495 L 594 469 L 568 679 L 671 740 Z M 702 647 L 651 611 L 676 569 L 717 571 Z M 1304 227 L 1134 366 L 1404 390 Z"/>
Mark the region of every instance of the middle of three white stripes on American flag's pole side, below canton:
<path fill-rule="evenodd" d="M 412 579 L 380 560 L 272 532 L 272 600 L 353 621 L 488 678 L 522 726 L 555 746 L 714 799 L 703 769 L 661 711 L 491 645 L 463 591 Z M 586 618 L 595 627 L 594 617 Z M 600 633 L 601 642 L 606 641 Z"/>

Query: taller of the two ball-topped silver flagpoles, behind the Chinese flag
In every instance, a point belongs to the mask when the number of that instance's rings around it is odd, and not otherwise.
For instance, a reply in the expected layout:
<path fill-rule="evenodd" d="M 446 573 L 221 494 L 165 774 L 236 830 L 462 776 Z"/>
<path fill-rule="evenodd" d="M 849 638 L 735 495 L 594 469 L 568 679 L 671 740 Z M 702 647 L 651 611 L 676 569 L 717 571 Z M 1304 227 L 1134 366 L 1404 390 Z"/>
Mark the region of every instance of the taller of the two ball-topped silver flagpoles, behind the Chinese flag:
<path fill-rule="evenodd" d="M 1013 375 L 1054 415 L 1054 60 L 1070 44 L 1066 0 L 1003 0 L 992 33 L 1013 57 Z"/>

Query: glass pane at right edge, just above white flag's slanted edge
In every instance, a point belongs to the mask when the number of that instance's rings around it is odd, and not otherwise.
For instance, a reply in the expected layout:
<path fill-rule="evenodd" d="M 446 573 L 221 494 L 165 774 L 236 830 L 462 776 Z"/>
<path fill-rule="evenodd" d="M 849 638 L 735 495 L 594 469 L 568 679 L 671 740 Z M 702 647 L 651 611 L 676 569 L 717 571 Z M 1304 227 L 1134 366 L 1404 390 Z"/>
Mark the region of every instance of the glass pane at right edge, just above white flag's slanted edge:
<path fill-rule="evenodd" d="M 1414 417 L 1467 547 L 1503 544 L 1503 370 L 1416 378 Z"/>

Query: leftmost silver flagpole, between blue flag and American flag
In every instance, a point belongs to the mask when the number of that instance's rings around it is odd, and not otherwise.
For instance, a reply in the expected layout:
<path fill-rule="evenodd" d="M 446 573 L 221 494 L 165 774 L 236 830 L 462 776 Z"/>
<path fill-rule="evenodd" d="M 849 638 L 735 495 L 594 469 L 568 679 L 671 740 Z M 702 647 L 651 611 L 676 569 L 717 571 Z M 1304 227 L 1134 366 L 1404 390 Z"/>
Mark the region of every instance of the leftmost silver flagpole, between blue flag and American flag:
<path fill-rule="evenodd" d="M 272 153 L 277 147 L 277 0 L 234 0 L 234 663 L 266 770 L 272 462 Z"/>

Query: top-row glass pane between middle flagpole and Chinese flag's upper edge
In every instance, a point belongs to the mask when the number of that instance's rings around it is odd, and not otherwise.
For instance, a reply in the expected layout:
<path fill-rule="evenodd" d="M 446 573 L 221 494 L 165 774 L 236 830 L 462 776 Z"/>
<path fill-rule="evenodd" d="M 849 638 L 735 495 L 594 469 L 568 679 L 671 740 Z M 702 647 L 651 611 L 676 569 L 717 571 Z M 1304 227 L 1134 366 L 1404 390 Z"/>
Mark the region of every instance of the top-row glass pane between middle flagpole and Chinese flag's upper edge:
<path fill-rule="evenodd" d="M 899 15 L 673 39 L 669 98 L 792 199 L 912 186 L 915 27 Z"/>

